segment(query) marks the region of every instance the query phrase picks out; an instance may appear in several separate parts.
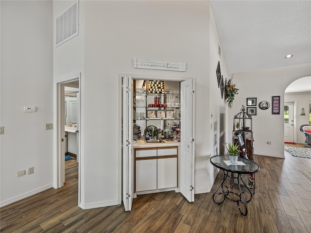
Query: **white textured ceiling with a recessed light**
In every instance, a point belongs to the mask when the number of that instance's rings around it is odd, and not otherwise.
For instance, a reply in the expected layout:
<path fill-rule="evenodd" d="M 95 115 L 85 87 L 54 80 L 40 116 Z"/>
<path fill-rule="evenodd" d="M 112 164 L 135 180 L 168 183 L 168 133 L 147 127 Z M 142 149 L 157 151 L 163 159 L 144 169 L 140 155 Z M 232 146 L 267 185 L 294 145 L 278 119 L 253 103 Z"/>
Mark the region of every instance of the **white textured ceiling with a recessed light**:
<path fill-rule="evenodd" d="M 310 0 L 209 2 L 229 73 L 311 63 Z"/>

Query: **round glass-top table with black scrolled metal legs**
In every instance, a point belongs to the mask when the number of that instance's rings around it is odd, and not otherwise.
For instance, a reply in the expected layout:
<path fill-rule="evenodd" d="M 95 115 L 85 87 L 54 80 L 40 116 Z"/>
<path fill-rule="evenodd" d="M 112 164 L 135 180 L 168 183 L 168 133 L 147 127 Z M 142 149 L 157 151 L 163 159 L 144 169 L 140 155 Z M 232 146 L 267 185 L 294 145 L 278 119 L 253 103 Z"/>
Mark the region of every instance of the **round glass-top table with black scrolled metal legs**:
<path fill-rule="evenodd" d="M 210 158 L 210 163 L 213 166 L 220 168 L 224 172 L 224 177 L 221 183 L 218 185 L 217 189 L 213 194 L 213 201 L 216 204 L 224 203 L 226 199 L 235 201 L 238 204 L 238 208 L 242 215 L 247 215 L 247 203 L 250 202 L 253 198 L 253 194 L 249 189 L 248 185 L 242 179 L 242 174 L 254 174 L 259 171 L 260 167 L 257 163 L 252 160 L 244 159 L 242 157 L 238 158 L 238 164 L 230 164 L 229 162 L 229 155 L 215 155 Z M 231 180 L 230 180 L 230 188 L 227 185 L 224 185 L 226 178 L 229 177 L 230 179 L 235 179 L 237 181 L 237 185 L 239 187 L 240 193 L 236 193 L 232 191 Z M 241 183 L 242 182 L 242 183 Z M 245 186 L 246 192 L 249 192 L 248 200 L 244 199 L 245 192 L 242 191 L 241 185 Z M 222 192 L 219 192 L 219 195 L 223 195 L 223 199 L 220 201 L 215 200 L 215 194 L 222 188 Z M 254 187 L 255 188 L 255 187 Z M 229 194 L 233 196 L 238 196 L 239 199 L 234 200 L 233 198 L 229 197 Z M 242 204 L 242 206 L 241 206 Z M 243 207 L 243 208 L 241 208 Z"/>

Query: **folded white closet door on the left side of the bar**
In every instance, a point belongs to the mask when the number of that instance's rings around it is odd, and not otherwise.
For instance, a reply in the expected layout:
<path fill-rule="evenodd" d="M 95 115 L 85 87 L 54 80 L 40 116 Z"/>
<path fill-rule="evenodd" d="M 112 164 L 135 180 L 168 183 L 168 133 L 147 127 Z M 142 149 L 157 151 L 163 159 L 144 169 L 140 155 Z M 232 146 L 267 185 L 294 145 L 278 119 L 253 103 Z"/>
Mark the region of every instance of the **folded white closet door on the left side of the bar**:
<path fill-rule="evenodd" d="M 122 78 L 122 200 L 125 211 L 132 209 L 132 78 Z"/>

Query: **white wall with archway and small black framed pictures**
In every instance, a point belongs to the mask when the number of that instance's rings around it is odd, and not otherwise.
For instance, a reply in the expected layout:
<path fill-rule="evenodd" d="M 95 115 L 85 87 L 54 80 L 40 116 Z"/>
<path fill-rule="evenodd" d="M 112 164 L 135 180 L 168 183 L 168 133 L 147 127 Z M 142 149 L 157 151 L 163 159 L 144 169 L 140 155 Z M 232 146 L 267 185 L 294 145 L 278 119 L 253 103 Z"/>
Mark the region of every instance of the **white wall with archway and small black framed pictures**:
<path fill-rule="evenodd" d="M 267 70 L 234 74 L 234 82 L 240 89 L 232 109 L 228 111 L 228 126 L 239 113 L 242 105 L 246 109 L 246 98 L 257 98 L 257 116 L 253 116 L 255 154 L 284 157 L 284 91 L 294 80 L 310 76 L 311 64 L 280 67 Z M 258 107 L 260 101 L 271 104 L 272 96 L 280 96 L 280 114 L 272 115 L 272 106 L 267 110 Z M 231 135 L 229 135 L 231 137 Z M 268 145 L 271 141 L 272 145 Z"/>

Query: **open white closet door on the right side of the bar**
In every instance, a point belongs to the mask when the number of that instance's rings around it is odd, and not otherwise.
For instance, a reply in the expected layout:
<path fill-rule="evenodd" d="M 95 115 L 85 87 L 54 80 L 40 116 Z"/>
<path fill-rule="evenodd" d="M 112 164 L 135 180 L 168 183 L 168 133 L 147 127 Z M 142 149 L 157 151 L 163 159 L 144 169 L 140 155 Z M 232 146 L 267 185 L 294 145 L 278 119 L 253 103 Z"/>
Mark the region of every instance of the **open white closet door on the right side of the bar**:
<path fill-rule="evenodd" d="M 192 82 L 192 79 L 181 82 L 180 90 L 180 192 L 190 202 L 194 201 L 194 91 Z"/>

